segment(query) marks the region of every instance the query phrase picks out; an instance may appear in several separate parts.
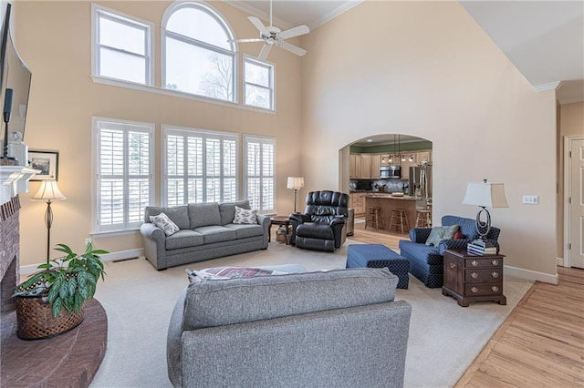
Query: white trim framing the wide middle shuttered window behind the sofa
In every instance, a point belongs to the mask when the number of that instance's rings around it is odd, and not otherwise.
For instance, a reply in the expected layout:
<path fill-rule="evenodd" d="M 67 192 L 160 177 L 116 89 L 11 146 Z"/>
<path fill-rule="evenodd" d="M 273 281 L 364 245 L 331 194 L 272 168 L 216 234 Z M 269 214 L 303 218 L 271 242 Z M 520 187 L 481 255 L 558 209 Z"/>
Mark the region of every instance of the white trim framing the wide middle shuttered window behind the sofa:
<path fill-rule="evenodd" d="M 221 138 L 231 138 L 235 140 L 235 164 L 237 165 L 239 160 L 241 159 L 240 155 L 240 136 L 236 132 L 222 132 L 222 131 L 214 131 L 208 129 L 199 129 L 199 128 L 189 128 L 189 127 L 180 127 L 180 126 L 172 126 L 168 124 L 162 124 L 162 146 L 161 146 L 161 206 L 168 206 L 168 175 L 166 173 L 168 168 L 168 154 L 167 154 L 167 138 L 169 135 L 202 135 L 203 137 L 221 137 Z M 222 174 L 223 175 L 223 174 Z M 241 193 L 241 189 L 239 188 L 239 181 L 240 181 L 240 172 L 239 169 L 235 171 L 235 198 L 239 198 Z"/>

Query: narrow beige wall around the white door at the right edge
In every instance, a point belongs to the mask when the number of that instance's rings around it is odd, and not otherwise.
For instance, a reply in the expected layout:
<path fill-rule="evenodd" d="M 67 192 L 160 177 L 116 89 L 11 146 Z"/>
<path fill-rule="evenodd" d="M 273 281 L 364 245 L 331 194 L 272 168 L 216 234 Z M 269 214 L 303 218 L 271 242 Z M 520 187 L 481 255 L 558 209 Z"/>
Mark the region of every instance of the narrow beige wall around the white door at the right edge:
<path fill-rule="evenodd" d="M 558 107 L 558 258 L 564 258 L 564 139 L 584 136 L 584 102 Z"/>

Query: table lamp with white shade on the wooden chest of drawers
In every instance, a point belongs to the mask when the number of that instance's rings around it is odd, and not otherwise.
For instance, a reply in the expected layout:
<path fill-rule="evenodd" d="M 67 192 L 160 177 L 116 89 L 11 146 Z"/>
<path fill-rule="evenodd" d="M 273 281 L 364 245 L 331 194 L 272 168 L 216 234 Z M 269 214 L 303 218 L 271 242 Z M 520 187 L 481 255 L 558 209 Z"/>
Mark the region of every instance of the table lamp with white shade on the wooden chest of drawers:
<path fill-rule="evenodd" d="M 505 187 L 503 183 L 469 182 L 466 185 L 466 194 L 463 199 L 464 205 L 475 205 L 481 209 L 476 213 L 476 231 L 480 239 L 485 241 L 486 235 L 491 230 L 491 214 L 486 208 L 508 208 L 505 197 Z M 485 213 L 485 220 L 481 217 Z M 488 243 L 485 241 L 488 246 Z"/>

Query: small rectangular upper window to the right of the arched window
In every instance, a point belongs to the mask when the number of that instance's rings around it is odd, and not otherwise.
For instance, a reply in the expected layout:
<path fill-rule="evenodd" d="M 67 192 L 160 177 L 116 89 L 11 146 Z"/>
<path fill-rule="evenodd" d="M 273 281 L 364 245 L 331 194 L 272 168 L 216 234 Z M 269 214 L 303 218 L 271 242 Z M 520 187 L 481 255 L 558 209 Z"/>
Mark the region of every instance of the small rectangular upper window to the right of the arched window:
<path fill-rule="evenodd" d="M 274 66 L 244 57 L 245 105 L 274 109 Z"/>

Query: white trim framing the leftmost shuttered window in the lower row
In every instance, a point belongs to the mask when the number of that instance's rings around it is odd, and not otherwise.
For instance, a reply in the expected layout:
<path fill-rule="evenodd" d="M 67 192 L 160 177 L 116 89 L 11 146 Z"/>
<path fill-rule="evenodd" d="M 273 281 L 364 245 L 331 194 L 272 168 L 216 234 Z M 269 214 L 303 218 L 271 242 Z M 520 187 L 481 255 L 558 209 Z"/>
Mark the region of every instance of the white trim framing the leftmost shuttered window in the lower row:
<path fill-rule="evenodd" d="M 138 228 L 130 228 L 130 229 L 121 229 L 121 230 L 100 230 L 98 225 L 98 163 L 97 163 L 97 151 L 99 149 L 99 128 L 98 123 L 99 121 L 109 121 L 116 124 L 125 124 L 125 125 L 134 125 L 134 126 L 141 126 L 149 128 L 150 133 L 150 155 L 149 158 L 149 171 L 150 171 L 150 179 L 149 179 L 149 191 L 150 195 L 150 206 L 154 205 L 154 196 L 155 196 L 155 179 L 154 179 L 154 166 L 155 166 L 155 145 L 154 145 L 154 133 L 156 130 L 156 125 L 153 123 L 146 123 L 140 121 L 130 121 L 130 120 L 122 120 L 118 118 L 108 118 L 108 117 L 92 117 L 92 136 L 91 136 L 91 150 L 92 150 L 92 157 L 91 157 L 91 235 L 98 236 L 98 235 L 115 235 L 115 234 L 123 234 L 128 232 L 129 230 L 136 230 Z"/>

